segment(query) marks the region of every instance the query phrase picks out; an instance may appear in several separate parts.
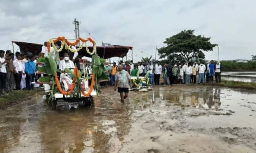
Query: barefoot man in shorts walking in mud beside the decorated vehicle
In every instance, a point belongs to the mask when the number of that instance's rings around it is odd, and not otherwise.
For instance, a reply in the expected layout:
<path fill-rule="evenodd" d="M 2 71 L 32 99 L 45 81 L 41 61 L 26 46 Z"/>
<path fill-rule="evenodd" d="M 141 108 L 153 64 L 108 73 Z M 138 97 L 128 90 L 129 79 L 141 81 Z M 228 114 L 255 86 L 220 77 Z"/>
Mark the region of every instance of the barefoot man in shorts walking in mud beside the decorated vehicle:
<path fill-rule="evenodd" d="M 124 100 L 128 97 L 129 93 L 129 87 L 131 88 L 132 81 L 130 79 L 130 74 L 123 70 L 123 65 L 118 65 L 119 72 L 116 74 L 116 82 L 115 82 L 115 88 L 118 87 L 118 92 L 120 93 L 121 102 L 124 102 Z M 129 85 L 130 84 L 130 85 Z M 123 96 L 124 93 L 124 96 Z"/>

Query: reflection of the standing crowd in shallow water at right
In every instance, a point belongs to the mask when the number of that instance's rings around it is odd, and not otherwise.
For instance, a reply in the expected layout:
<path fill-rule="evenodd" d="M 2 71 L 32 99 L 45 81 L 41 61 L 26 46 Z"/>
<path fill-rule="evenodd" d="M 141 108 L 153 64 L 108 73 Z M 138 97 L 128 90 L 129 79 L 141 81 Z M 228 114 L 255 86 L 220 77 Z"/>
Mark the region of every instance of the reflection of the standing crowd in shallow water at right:
<path fill-rule="evenodd" d="M 220 88 L 202 88 L 195 92 L 173 91 L 163 92 L 162 98 L 171 103 L 197 108 L 218 109 L 220 107 Z M 160 94 L 161 95 L 161 94 Z"/>

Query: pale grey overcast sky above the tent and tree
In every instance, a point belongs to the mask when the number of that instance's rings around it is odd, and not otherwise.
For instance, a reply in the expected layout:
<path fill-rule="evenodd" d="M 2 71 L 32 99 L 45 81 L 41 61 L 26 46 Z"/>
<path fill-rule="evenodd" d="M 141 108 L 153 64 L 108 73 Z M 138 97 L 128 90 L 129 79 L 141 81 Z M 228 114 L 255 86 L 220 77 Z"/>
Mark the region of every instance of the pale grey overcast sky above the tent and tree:
<path fill-rule="evenodd" d="M 90 32 L 98 45 L 133 46 L 135 61 L 155 56 L 156 46 L 185 29 L 211 37 L 220 60 L 251 59 L 256 55 L 255 6 L 249 0 L 0 0 L 0 49 L 12 49 L 12 40 L 43 44 L 51 37 L 75 38 L 76 18 L 81 37 Z M 218 48 L 205 54 L 217 60 Z"/>

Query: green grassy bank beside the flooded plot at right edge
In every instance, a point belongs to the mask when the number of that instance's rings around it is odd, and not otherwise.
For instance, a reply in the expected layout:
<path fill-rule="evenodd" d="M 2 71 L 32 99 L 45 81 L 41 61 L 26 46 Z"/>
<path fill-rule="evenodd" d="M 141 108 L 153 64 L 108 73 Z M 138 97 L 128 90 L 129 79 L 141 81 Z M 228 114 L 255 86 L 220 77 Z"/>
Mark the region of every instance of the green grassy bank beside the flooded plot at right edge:
<path fill-rule="evenodd" d="M 252 83 L 252 82 L 222 80 L 221 83 L 219 83 L 219 85 L 229 87 L 229 88 L 244 88 L 244 89 L 250 89 L 250 90 L 256 89 L 256 83 Z"/>

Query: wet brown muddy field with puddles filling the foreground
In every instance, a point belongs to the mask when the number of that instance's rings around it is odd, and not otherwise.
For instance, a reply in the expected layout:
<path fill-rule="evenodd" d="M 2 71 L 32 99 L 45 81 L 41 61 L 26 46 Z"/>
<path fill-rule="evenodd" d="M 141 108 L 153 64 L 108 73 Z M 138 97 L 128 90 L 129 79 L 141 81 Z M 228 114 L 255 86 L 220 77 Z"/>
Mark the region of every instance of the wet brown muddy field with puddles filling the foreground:
<path fill-rule="evenodd" d="M 154 86 L 130 92 L 124 104 L 119 99 L 106 88 L 95 107 L 51 111 L 32 99 L 1 110 L 0 152 L 256 152 L 255 93 Z"/>

